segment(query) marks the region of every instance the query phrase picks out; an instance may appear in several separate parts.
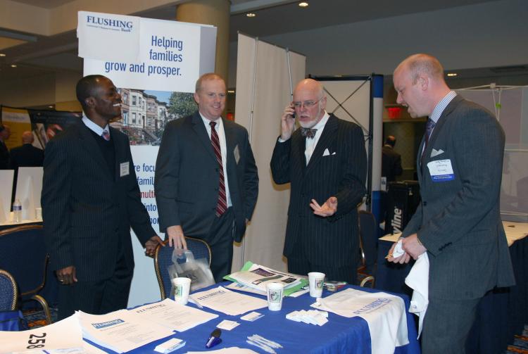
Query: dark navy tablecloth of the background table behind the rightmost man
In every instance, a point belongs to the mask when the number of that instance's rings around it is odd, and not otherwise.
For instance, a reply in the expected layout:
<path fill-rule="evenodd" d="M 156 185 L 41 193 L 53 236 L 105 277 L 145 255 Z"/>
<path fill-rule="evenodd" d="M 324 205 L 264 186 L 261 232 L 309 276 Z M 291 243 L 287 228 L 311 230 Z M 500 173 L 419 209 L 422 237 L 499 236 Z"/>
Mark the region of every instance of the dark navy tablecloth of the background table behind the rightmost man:
<path fill-rule="evenodd" d="M 405 284 L 412 261 L 399 265 L 384 258 L 391 241 L 378 240 L 376 289 L 412 295 Z M 494 289 L 482 298 L 477 317 L 467 339 L 467 353 L 503 353 L 513 336 L 521 334 L 528 324 L 528 237 L 510 246 L 510 256 L 517 284 L 511 288 Z"/>

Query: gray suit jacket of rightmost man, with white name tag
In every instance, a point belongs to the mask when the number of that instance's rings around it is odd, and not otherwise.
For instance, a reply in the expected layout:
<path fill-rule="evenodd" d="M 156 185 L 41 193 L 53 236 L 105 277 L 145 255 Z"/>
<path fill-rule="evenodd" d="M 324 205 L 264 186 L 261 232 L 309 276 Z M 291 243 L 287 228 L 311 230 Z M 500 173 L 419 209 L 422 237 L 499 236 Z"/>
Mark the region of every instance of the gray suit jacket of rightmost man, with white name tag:
<path fill-rule="evenodd" d="M 403 236 L 417 232 L 427 248 L 431 298 L 479 298 L 515 283 L 499 209 L 503 151 L 504 132 L 494 116 L 455 96 L 434 127 L 421 168 L 418 153 L 422 203 Z M 434 160 L 450 160 L 454 179 L 433 182 L 427 164 Z"/>

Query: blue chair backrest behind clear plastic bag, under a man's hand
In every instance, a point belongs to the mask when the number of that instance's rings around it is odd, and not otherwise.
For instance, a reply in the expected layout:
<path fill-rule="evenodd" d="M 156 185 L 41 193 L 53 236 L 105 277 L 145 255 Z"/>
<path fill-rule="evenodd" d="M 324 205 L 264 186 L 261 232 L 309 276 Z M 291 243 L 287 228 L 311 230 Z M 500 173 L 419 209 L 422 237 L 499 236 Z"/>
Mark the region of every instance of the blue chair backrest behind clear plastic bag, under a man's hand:
<path fill-rule="evenodd" d="M 194 239 L 193 237 L 185 236 L 187 241 L 187 249 L 192 251 L 194 259 L 206 258 L 210 266 L 210 247 L 201 239 Z M 158 245 L 156 247 L 156 253 L 154 255 L 154 270 L 156 270 L 156 278 L 158 279 L 158 285 L 160 286 L 161 300 L 168 298 L 170 295 L 170 277 L 168 273 L 168 267 L 172 265 L 172 251 L 174 248 L 168 246 L 168 241 L 164 241 L 165 247 Z M 178 260 L 178 263 L 183 263 L 185 260 Z"/>

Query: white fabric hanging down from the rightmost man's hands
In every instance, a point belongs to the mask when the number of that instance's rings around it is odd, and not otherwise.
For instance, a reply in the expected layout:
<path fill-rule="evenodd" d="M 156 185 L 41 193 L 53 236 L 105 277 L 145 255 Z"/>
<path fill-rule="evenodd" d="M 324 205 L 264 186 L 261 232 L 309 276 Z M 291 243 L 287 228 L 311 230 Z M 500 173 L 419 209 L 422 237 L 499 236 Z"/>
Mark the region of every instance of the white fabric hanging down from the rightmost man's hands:
<path fill-rule="evenodd" d="M 406 284 L 413 289 L 409 312 L 418 316 L 418 338 L 420 338 L 425 312 L 429 305 L 429 257 L 427 252 L 418 256 L 415 265 L 406 277 Z"/>

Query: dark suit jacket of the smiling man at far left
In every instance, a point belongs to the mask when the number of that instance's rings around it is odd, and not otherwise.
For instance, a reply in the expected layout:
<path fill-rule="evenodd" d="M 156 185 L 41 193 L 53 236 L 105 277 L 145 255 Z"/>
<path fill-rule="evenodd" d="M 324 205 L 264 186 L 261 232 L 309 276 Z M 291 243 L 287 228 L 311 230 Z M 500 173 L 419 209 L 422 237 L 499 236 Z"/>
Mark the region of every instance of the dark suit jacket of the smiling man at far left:
<path fill-rule="evenodd" d="M 42 217 L 50 262 L 54 270 L 74 265 L 79 281 L 111 277 L 118 246 L 132 272 L 131 225 L 142 244 L 156 235 L 140 198 L 128 138 L 110 132 L 113 172 L 82 121 L 51 139 L 44 151 Z M 128 163 L 123 177 L 121 163 Z"/>

